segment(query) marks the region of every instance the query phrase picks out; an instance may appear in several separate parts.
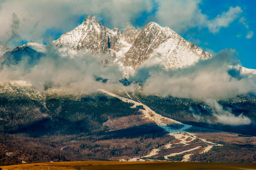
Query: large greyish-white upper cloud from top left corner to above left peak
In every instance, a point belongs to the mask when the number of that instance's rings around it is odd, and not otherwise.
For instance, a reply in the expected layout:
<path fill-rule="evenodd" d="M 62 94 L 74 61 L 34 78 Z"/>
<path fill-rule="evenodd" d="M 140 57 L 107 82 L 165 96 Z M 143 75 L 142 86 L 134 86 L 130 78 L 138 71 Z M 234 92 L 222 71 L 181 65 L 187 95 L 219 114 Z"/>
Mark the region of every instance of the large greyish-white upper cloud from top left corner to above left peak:
<path fill-rule="evenodd" d="M 55 28 L 59 32 L 72 30 L 80 16 L 90 14 L 104 19 L 109 28 L 126 27 L 127 23 L 141 16 L 143 11 L 152 10 L 151 1 L 142 0 L 20 0 L 0 2 L 0 41 L 6 42 L 13 36 L 13 14 L 19 26 L 16 33 L 21 40 L 42 43 L 46 30 Z M 13 44 L 10 44 L 13 45 Z"/>

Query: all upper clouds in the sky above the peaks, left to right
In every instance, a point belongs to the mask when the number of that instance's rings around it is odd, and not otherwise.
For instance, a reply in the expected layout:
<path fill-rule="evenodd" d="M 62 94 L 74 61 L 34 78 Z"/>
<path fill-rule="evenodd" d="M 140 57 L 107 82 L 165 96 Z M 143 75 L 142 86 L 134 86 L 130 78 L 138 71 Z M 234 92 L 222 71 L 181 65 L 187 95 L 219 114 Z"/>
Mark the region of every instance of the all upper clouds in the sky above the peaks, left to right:
<path fill-rule="evenodd" d="M 143 12 L 155 13 L 148 16 L 144 24 L 155 21 L 161 26 L 168 26 L 180 33 L 188 28 L 209 28 L 211 33 L 217 33 L 220 28 L 228 27 L 240 16 L 240 7 L 230 7 L 228 11 L 219 14 L 212 20 L 203 14 L 199 8 L 200 0 L 19 0 L 0 2 L 0 41 L 10 41 L 11 46 L 17 40 L 13 35 L 20 35 L 19 40 L 42 43 L 46 39 L 47 30 L 66 32 L 77 26 L 81 16 L 90 14 L 99 20 L 104 20 L 109 28 L 127 27 L 135 23 Z M 13 15 L 19 25 L 13 32 Z M 16 22 L 17 23 L 17 22 Z M 246 20 L 240 18 L 240 23 Z M 13 34 L 15 33 L 15 34 Z"/>

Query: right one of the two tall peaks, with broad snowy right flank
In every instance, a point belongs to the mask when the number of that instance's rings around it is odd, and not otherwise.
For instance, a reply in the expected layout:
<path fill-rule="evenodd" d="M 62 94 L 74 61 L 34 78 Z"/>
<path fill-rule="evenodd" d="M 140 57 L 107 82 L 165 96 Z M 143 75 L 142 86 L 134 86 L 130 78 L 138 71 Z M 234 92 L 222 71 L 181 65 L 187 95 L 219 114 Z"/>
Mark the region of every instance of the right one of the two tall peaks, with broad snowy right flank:
<path fill-rule="evenodd" d="M 134 44 L 125 53 L 125 66 L 134 69 L 150 57 L 153 64 L 164 65 L 165 68 L 182 68 L 191 65 L 199 59 L 210 58 L 211 55 L 168 27 L 161 27 L 157 23 L 147 24 L 135 39 Z"/>

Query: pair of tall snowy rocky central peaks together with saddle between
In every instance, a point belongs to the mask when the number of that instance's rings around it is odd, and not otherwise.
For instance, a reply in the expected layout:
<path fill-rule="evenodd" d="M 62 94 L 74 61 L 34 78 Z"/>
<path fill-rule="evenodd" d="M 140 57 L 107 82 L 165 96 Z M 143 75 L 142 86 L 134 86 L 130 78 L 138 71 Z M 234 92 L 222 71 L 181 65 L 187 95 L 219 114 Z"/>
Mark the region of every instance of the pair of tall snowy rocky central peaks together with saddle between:
<path fill-rule="evenodd" d="M 53 41 L 53 44 L 75 51 L 91 51 L 96 55 L 111 54 L 112 61 L 122 61 L 124 68 L 130 71 L 149 58 L 153 65 L 176 69 L 211 57 L 170 28 L 161 27 L 157 23 L 151 22 L 142 30 L 130 27 L 123 35 L 117 28 L 106 28 L 92 15 L 86 17 L 81 25 Z"/>

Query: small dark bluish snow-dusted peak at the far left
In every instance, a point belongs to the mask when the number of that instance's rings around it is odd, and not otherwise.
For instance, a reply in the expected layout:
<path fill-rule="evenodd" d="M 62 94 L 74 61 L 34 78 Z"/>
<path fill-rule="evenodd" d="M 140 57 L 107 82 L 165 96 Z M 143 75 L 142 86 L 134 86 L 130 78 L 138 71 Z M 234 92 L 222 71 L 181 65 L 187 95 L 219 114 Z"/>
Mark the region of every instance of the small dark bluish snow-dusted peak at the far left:
<path fill-rule="evenodd" d="M 46 45 L 39 43 L 27 43 L 19 45 L 12 51 L 6 52 L 2 58 L 3 63 L 7 65 L 15 65 L 23 58 L 27 59 L 28 64 L 36 64 L 37 60 L 45 55 Z"/>

